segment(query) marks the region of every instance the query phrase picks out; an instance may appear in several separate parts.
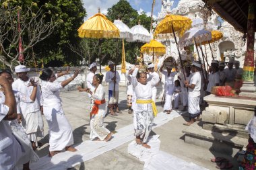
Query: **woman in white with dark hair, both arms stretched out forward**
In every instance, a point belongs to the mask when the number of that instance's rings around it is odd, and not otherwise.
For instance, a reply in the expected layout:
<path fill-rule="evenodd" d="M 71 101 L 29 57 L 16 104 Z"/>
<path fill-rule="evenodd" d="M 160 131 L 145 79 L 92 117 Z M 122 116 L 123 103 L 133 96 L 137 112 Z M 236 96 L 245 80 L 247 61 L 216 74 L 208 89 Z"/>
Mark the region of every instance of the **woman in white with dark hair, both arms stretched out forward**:
<path fill-rule="evenodd" d="M 42 97 L 44 99 L 44 116 L 49 126 L 49 157 L 53 157 L 65 148 L 66 151 L 75 152 L 73 144 L 73 133 L 71 125 L 62 109 L 62 101 L 59 91 L 68 85 L 75 77 L 79 70 L 75 70 L 74 75 L 61 83 L 55 83 L 57 77 L 61 77 L 69 73 L 69 68 L 64 73 L 54 74 L 51 69 L 45 69 L 40 75 L 42 79 Z"/>

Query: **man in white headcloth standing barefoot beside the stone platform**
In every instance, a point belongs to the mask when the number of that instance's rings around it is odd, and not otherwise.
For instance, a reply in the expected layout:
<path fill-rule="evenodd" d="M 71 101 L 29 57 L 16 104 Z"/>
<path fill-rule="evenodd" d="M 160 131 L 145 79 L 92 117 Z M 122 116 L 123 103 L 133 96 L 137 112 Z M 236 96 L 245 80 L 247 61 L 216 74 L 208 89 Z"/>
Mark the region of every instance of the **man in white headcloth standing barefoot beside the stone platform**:
<path fill-rule="evenodd" d="M 186 87 L 189 88 L 189 119 L 190 121 L 187 122 L 186 126 L 189 126 L 195 122 L 195 117 L 200 116 L 200 89 L 201 89 L 201 64 L 197 61 L 193 61 L 191 71 L 192 77 L 189 81 L 184 81 Z"/>

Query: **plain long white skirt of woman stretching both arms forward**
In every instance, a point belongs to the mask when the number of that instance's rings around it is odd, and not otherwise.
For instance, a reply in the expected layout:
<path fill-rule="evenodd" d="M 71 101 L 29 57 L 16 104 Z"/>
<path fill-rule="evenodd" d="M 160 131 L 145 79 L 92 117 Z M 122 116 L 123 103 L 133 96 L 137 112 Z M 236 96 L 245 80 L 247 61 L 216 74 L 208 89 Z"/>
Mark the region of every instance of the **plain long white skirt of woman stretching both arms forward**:
<path fill-rule="evenodd" d="M 54 105 L 54 104 L 53 104 Z M 69 121 L 59 105 L 55 107 L 44 106 L 44 116 L 49 126 L 49 151 L 61 151 L 73 144 L 73 133 Z"/>

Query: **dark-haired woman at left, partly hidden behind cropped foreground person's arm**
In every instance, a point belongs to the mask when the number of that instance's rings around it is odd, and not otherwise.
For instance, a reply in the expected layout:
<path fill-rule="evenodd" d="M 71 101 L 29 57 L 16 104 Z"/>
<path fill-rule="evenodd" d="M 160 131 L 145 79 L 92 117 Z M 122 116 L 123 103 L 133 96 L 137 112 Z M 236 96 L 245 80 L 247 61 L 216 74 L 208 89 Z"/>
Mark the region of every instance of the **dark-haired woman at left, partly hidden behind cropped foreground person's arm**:
<path fill-rule="evenodd" d="M 13 83 L 13 77 L 9 71 L 2 71 L 0 75 L 4 76 L 9 81 L 9 83 Z M 34 79 L 30 79 L 30 85 L 33 86 L 33 91 L 30 97 L 20 91 L 13 90 L 18 115 L 22 114 L 20 110 L 20 101 L 24 103 L 32 103 L 36 99 L 37 85 L 34 82 Z M 3 91 L 0 91 L 0 103 L 5 103 L 5 94 L 3 93 Z M 32 148 L 32 144 L 30 142 L 30 139 L 28 138 L 28 135 L 26 134 L 26 130 L 22 125 L 19 124 L 18 120 L 9 120 L 9 125 L 11 126 L 13 135 L 22 146 L 22 157 L 20 158 L 18 165 L 23 165 L 23 170 L 28 170 L 29 162 L 38 161 L 39 157 Z"/>

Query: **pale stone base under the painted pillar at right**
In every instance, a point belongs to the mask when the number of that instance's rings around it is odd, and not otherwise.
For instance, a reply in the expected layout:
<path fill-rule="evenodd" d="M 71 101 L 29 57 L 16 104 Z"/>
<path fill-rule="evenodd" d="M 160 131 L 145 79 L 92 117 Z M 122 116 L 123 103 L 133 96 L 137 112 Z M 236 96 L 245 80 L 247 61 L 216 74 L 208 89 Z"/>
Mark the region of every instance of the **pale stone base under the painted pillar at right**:
<path fill-rule="evenodd" d="M 256 98 L 256 86 L 253 81 L 244 81 L 241 87 L 240 96 L 255 97 Z"/>

